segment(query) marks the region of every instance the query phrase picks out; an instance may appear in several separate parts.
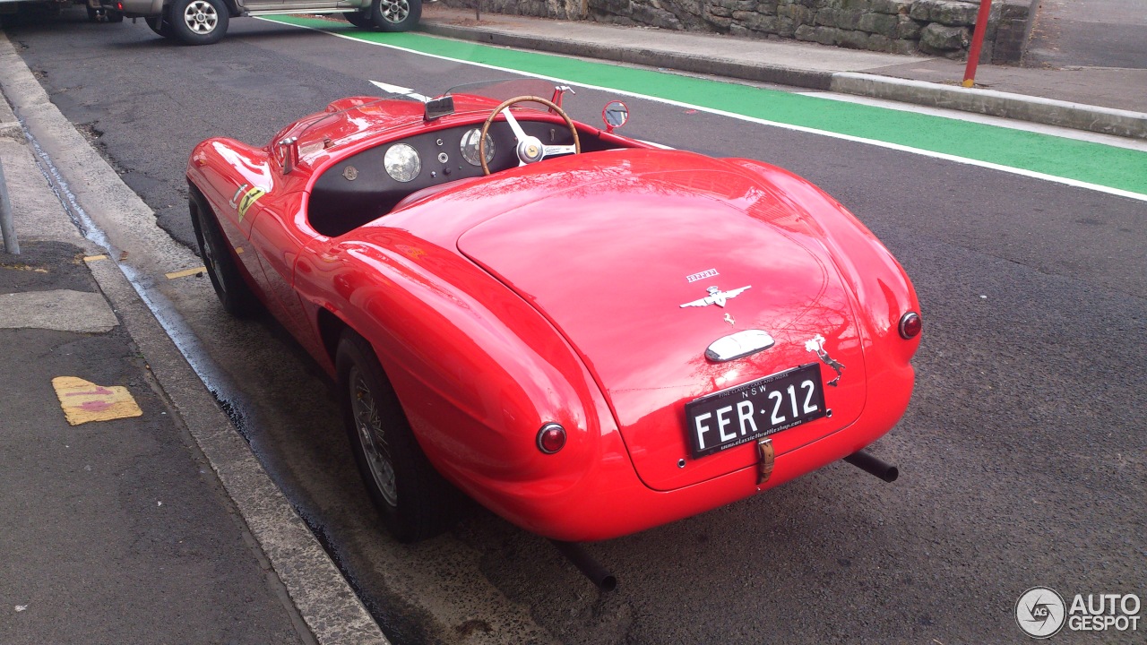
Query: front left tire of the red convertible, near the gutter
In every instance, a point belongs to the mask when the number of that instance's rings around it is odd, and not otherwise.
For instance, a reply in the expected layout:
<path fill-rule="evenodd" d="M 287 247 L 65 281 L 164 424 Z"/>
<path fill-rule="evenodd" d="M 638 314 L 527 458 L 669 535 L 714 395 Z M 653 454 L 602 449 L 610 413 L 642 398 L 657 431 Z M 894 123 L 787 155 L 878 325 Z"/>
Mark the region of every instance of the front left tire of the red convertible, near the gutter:
<path fill-rule="evenodd" d="M 194 189 L 187 202 L 192 211 L 195 241 L 200 243 L 200 256 L 224 311 L 235 318 L 250 318 L 262 309 L 259 298 L 243 280 L 231 244 L 219 228 L 219 220 L 206 201 Z"/>

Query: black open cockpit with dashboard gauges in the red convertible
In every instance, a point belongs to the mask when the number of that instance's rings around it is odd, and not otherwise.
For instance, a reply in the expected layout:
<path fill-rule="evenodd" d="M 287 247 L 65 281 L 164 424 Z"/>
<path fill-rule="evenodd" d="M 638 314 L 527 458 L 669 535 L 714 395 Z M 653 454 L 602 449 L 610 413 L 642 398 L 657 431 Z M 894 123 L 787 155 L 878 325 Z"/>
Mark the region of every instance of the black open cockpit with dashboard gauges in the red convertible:
<path fill-rule="evenodd" d="M 518 123 L 526 134 L 537 137 L 545 145 L 568 146 L 574 142 L 569 129 L 562 124 L 523 121 L 521 117 Z M 462 135 L 477 126 L 481 124 L 416 134 L 364 150 L 330 166 L 314 182 L 311 192 L 307 210 L 311 226 L 323 235 L 338 236 L 390 212 L 395 204 L 415 191 L 455 179 L 481 177 L 482 166 L 470 165 L 461 154 Z M 490 171 L 515 168 L 518 162 L 509 125 L 493 123 L 490 137 L 494 141 L 494 158 L 487 164 Z M 578 139 L 583 151 L 616 147 L 616 143 L 606 146 L 584 131 L 578 132 Z M 421 157 L 422 170 L 411 181 L 396 181 L 387 174 L 383 157 L 396 143 L 412 146 Z M 445 155 L 445 161 L 440 161 L 440 155 Z"/>

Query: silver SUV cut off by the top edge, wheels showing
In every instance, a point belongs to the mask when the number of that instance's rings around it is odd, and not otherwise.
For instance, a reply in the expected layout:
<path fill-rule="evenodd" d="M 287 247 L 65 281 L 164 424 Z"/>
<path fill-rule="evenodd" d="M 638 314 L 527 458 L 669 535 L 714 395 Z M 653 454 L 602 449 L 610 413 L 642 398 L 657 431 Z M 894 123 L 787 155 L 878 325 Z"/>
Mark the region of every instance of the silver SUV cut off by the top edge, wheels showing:
<path fill-rule="evenodd" d="M 407 31 L 422 16 L 422 0 L 101 0 L 110 11 L 143 18 L 151 31 L 187 45 L 218 42 L 239 16 L 342 14 L 362 29 Z"/>

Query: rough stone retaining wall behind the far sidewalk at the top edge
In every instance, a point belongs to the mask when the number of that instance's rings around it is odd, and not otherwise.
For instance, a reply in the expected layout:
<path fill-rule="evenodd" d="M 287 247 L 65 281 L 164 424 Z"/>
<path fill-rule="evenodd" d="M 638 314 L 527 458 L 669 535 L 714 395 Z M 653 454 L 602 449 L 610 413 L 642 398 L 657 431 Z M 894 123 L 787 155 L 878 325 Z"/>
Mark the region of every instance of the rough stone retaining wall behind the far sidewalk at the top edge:
<path fill-rule="evenodd" d="M 978 0 L 442 0 L 450 7 L 622 25 L 794 38 L 965 59 Z M 993 0 L 981 62 L 1019 62 L 1035 0 Z"/>

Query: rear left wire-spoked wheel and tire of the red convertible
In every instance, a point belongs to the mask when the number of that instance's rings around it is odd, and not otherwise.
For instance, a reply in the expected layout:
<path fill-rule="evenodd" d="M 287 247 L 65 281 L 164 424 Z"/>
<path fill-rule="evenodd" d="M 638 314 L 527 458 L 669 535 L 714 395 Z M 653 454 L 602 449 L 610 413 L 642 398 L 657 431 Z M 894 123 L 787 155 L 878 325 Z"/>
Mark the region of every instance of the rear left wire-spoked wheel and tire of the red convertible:
<path fill-rule="evenodd" d="M 383 526 L 404 543 L 452 527 L 461 494 L 419 446 L 374 348 L 348 329 L 338 341 L 335 365 L 351 451 Z"/>

